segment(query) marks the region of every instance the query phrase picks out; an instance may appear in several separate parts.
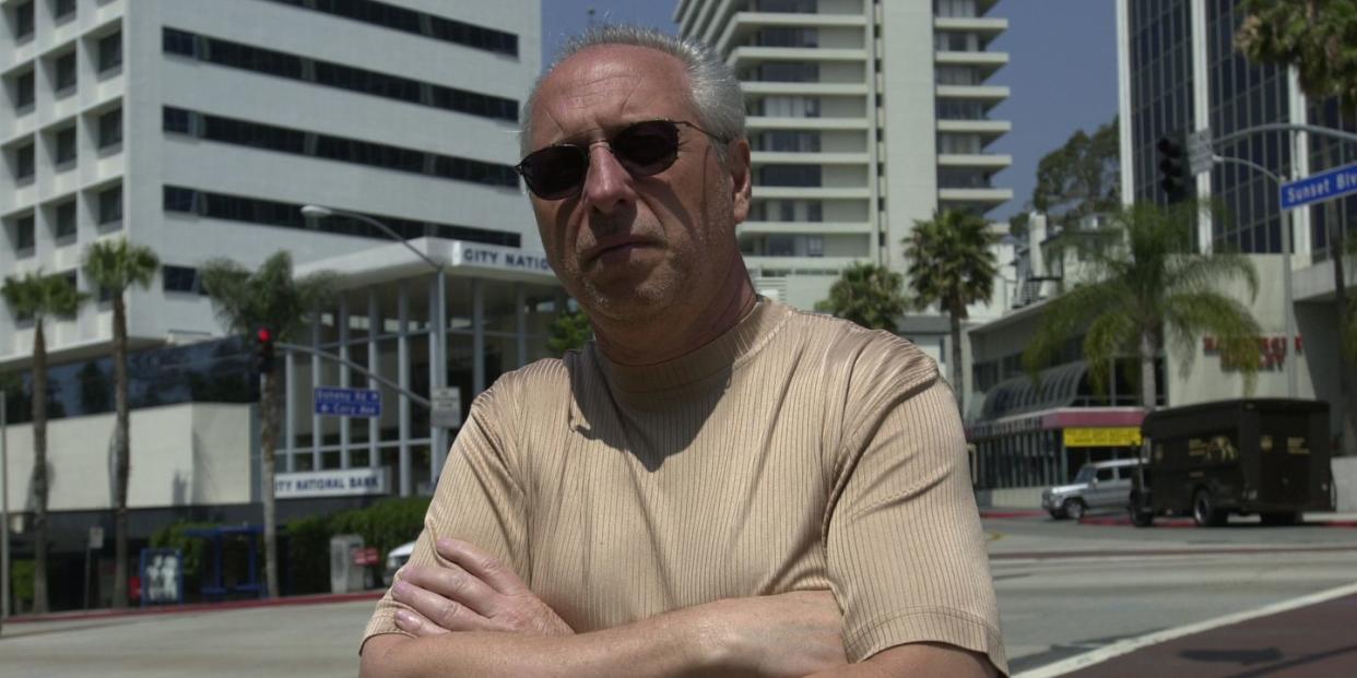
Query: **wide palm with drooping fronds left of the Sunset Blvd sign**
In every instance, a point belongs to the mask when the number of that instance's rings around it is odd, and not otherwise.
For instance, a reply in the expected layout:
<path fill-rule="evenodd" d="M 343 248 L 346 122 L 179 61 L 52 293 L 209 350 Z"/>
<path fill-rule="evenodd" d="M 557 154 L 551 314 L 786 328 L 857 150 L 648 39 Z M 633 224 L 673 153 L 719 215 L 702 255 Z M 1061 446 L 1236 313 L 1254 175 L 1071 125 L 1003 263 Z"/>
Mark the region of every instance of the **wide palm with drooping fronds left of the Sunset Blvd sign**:
<path fill-rule="evenodd" d="M 1155 357 L 1163 342 L 1181 348 L 1179 369 L 1186 372 L 1197 336 L 1209 332 L 1219 338 L 1221 362 L 1238 365 L 1251 388 L 1262 331 L 1248 308 L 1220 293 L 1217 285 L 1243 281 L 1250 296 L 1257 296 L 1258 274 L 1236 254 L 1193 252 L 1191 226 L 1202 209 L 1190 202 L 1167 209 L 1133 205 L 1110 214 L 1110 237 L 1080 239 L 1075 247 L 1084 274 L 1042 311 L 1023 353 L 1027 372 L 1035 374 L 1083 332 L 1094 388 L 1106 388 L 1117 355 L 1137 355 L 1141 407 L 1153 410 Z"/>

